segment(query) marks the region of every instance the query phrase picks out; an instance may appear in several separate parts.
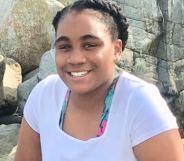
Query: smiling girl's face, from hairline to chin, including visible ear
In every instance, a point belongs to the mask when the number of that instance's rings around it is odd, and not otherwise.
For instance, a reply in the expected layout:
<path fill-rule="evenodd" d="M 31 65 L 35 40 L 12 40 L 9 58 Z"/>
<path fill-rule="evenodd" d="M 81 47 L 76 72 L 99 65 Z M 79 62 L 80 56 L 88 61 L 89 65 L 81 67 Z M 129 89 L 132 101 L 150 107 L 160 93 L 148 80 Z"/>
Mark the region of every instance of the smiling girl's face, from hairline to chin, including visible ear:
<path fill-rule="evenodd" d="M 58 74 L 72 92 L 109 87 L 122 43 L 112 41 L 107 26 L 92 11 L 67 13 L 59 22 L 55 47 Z"/>

